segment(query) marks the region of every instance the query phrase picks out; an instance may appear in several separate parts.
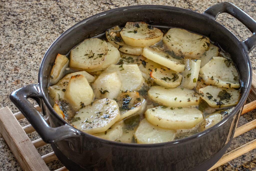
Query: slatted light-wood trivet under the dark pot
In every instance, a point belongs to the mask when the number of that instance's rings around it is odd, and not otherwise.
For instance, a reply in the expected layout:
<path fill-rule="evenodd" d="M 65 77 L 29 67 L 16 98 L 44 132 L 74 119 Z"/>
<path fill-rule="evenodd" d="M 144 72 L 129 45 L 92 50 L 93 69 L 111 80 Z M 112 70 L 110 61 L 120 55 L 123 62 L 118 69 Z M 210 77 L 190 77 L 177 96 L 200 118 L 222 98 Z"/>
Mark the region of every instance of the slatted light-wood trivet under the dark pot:
<path fill-rule="evenodd" d="M 248 100 L 252 101 L 246 104 L 243 108 L 242 114 L 250 112 L 256 108 L 256 75 L 252 74 L 252 88 L 248 96 Z M 35 108 L 41 112 L 38 105 Z M 25 118 L 21 112 L 15 114 L 8 107 L 0 109 L 0 133 L 5 139 L 7 145 L 13 152 L 14 156 L 18 160 L 20 166 L 23 170 L 49 170 L 46 163 L 49 163 L 58 158 L 51 152 L 44 156 L 40 156 L 37 148 L 46 145 L 46 143 L 41 139 L 36 139 L 31 141 L 27 134 L 32 133 L 35 129 L 29 124 L 22 127 L 18 120 Z M 234 133 L 234 138 L 255 128 L 256 119 L 248 122 L 238 128 L 236 128 Z M 234 158 L 249 152 L 250 150 L 256 148 L 256 139 L 250 141 L 249 143 L 243 144 L 240 147 L 231 150 L 230 152 L 224 154 L 220 160 L 212 166 L 209 170 L 215 169 Z M 66 167 L 61 167 L 55 171 L 68 170 Z"/>

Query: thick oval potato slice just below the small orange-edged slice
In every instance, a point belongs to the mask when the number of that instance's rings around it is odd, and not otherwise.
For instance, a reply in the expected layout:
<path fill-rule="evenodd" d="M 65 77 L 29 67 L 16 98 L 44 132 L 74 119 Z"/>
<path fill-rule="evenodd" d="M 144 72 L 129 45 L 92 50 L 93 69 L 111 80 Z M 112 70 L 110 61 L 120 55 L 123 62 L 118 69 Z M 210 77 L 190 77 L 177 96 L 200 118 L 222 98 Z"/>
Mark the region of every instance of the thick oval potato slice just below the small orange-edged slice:
<path fill-rule="evenodd" d="M 193 90 L 187 88 L 166 88 L 162 86 L 152 86 L 148 90 L 148 96 L 153 101 L 170 107 L 198 105 L 200 98 Z"/>

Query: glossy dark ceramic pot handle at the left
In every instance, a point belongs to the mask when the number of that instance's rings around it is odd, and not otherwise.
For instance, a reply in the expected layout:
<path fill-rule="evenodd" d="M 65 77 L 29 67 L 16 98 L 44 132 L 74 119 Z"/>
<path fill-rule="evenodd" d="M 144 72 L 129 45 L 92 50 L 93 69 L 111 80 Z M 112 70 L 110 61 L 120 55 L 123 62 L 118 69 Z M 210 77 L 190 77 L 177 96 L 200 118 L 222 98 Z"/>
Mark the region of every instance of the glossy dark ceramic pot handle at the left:
<path fill-rule="evenodd" d="M 54 143 L 62 139 L 79 135 L 71 125 L 50 127 L 43 116 L 34 108 L 27 98 L 35 99 L 39 105 L 42 102 L 42 92 L 38 84 L 29 84 L 19 88 L 10 94 L 10 99 L 18 107 L 20 112 L 28 119 L 36 132 L 46 143 Z"/>

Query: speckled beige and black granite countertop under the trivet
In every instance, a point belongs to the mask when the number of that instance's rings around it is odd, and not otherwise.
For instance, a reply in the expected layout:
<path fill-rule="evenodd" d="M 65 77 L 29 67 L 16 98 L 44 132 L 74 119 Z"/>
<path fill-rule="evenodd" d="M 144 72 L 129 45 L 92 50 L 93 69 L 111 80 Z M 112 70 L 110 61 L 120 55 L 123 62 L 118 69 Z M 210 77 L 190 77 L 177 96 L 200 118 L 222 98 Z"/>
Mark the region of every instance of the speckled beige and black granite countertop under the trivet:
<path fill-rule="evenodd" d="M 140 5 L 158 4 L 176 6 L 202 13 L 206 8 L 221 1 L 169 0 L 169 1 L 5 1 L 0 2 L 0 108 L 8 106 L 13 112 L 17 108 L 10 102 L 9 94 L 22 86 L 37 83 L 38 68 L 41 59 L 50 44 L 69 27 L 91 15 L 109 9 Z M 230 1 L 256 19 L 255 0 Z M 241 40 L 249 37 L 249 30 L 235 18 L 227 14 L 219 15 L 217 21 L 228 27 Z M 256 72 L 256 51 L 250 54 L 253 70 Z M 243 125 L 256 119 L 255 111 L 241 116 L 239 124 Z M 26 119 L 20 121 L 27 125 Z M 34 140 L 36 133 L 29 134 Z M 253 129 L 234 138 L 229 150 L 256 138 Z M 52 151 L 49 145 L 38 149 L 40 155 Z M 216 170 L 253 170 L 256 169 L 256 149 L 248 152 Z M 0 136 L 0 170 L 22 170 Z M 50 170 L 62 167 L 59 161 L 48 164 Z"/>

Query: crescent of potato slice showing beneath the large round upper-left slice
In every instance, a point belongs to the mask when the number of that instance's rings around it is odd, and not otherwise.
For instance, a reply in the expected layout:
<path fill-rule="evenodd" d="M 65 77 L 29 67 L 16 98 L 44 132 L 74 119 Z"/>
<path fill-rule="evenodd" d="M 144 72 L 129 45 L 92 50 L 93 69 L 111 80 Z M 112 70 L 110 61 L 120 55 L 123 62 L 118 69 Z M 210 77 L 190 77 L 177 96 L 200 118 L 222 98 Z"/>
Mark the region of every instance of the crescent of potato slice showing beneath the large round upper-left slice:
<path fill-rule="evenodd" d="M 105 61 L 100 67 L 93 68 L 93 69 L 87 69 L 88 72 L 96 72 L 96 71 L 102 71 L 106 69 L 111 64 L 116 64 L 118 60 L 120 59 L 120 52 L 116 47 L 114 47 L 112 44 L 107 42 L 108 45 L 108 54 L 106 56 Z"/>

